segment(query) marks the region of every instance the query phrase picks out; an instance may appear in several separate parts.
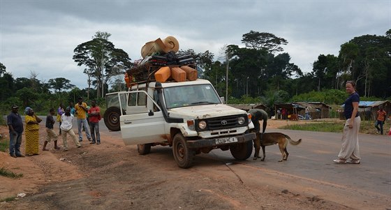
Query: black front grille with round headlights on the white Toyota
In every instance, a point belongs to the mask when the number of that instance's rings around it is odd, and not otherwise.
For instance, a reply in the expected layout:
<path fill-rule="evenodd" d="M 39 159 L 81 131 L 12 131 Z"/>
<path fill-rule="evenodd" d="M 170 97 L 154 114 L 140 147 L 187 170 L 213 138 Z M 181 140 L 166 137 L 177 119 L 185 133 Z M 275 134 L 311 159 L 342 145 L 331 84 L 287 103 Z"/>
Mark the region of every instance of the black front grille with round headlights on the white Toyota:
<path fill-rule="evenodd" d="M 239 125 L 237 123 L 237 119 L 239 117 L 244 117 L 244 123 L 242 125 Z M 198 122 L 199 121 L 206 121 L 207 127 L 202 130 L 221 130 L 221 129 L 227 129 L 227 128 L 237 128 L 242 126 L 247 126 L 249 123 L 247 114 L 239 114 L 239 115 L 233 115 L 233 116 L 226 116 L 226 117 L 215 117 L 215 118 L 209 118 L 209 119 L 197 119 L 195 120 L 195 128 L 197 131 L 202 131 L 200 128 L 198 128 Z"/>

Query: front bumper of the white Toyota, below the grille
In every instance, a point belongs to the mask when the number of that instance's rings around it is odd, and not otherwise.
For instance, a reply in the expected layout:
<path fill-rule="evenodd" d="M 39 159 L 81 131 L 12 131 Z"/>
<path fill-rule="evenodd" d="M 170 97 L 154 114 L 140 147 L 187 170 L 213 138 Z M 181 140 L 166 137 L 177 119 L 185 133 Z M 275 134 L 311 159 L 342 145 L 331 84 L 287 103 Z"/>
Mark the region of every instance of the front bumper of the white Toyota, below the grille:
<path fill-rule="evenodd" d="M 244 143 L 244 142 L 249 142 L 252 140 L 256 139 L 256 134 L 255 133 L 246 133 L 243 135 L 236 135 L 237 142 L 228 142 L 228 143 L 223 143 L 221 142 L 221 137 L 220 138 L 212 138 L 212 139 L 200 139 L 200 140 L 189 140 L 187 142 L 187 146 L 189 149 L 198 149 L 202 147 L 216 147 L 216 146 L 222 146 L 222 145 L 227 145 L 227 144 L 237 144 L 237 143 Z M 219 142 L 219 143 L 217 143 Z"/>

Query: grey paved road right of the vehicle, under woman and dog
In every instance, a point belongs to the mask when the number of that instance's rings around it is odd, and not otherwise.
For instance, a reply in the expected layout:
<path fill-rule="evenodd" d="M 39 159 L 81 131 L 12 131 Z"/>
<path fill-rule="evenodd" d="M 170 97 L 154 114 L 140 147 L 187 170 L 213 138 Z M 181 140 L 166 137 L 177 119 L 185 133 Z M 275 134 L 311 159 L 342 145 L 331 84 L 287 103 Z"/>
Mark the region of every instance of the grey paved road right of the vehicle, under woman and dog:
<path fill-rule="evenodd" d="M 361 164 L 341 165 L 332 162 L 341 149 L 341 133 L 267 131 L 285 133 L 293 140 L 302 138 L 302 143 L 288 144 L 290 155 L 286 162 L 277 162 L 281 153 L 274 145 L 266 147 L 265 162 L 249 158 L 244 162 L 246 165 L 279 174 L 291 183 L 297 182 L 297 186 L 311 188 L 309 191 L 314 195 L 339 200 L 348 207 L 367 209 L 368 203 L 373 209 L 391 208 L 391 137 L 360 135 Z M 214 150 L 211 154 L 226 163 L 233 161 L 229 152 Z"/>

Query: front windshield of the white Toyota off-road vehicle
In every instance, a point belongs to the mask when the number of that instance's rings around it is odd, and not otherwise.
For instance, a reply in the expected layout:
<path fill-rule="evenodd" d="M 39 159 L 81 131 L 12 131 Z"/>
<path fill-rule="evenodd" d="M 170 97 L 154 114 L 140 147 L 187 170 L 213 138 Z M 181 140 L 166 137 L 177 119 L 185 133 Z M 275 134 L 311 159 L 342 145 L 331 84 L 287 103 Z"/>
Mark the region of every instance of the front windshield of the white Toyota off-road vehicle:
<path fill-rule="evenodd" d="M 197 84 L 164 89 L 165 106 L 168 109 L 193 105 L 221 103 L 210 84 Z"/>

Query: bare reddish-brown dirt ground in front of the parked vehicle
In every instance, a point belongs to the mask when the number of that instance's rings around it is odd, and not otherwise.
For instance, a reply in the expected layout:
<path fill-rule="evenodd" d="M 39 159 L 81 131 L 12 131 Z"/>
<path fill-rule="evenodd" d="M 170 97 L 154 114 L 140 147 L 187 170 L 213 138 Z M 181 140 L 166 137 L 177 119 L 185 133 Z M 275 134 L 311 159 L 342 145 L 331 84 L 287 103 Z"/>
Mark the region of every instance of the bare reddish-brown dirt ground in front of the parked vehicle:
<path fill-rule="evenodd" d="M 26 158 L 0 152 L 0 167 L 23 174 L 0 177 L 0 200 L 27 194 L 1 202 L 0 209 L 351 209 L 301 193 L 304 189 L 288 190 L 281 176 L 274 179 L 269 171 L 243 163 L 209 161 L 208 154 L 182 170 L 170 147 L 140 156 L 113 133 L 103 131 L 101 139 L 102 144 L 90 145 L 84 137 L 80 149 L 70 142 L 69 151 L 50 149 Z"/>

